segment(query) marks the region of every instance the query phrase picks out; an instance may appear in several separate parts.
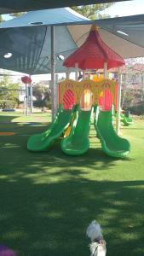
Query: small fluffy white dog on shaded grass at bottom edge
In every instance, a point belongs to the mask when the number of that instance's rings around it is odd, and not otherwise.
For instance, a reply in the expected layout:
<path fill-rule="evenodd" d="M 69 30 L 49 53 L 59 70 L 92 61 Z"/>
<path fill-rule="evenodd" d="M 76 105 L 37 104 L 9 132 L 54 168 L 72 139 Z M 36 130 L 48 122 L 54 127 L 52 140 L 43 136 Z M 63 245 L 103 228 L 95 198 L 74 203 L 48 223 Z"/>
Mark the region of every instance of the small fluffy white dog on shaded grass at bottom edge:
<path fill-rule="evenodd" d="M 106 256 L 106 241 L 103 239 L 101 226 L 95 220 L 89 224 L 86 230 L 87 236 L 91 239 L 90 256 Z"/>

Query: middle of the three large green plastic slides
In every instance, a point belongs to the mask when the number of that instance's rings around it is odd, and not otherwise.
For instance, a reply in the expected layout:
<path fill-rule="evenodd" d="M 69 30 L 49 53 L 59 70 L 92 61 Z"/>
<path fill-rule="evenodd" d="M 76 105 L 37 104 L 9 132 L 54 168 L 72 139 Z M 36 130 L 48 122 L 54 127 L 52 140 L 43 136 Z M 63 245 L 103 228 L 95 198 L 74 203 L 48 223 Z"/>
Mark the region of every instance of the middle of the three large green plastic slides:
<path fill-rule="evenodd" d="M 89 128 L 92 109 L 84 111 L 78 106 L 71 132 L 60 143 L 61 150 L 65 154 L 81 155 L 89 149 Z"/>

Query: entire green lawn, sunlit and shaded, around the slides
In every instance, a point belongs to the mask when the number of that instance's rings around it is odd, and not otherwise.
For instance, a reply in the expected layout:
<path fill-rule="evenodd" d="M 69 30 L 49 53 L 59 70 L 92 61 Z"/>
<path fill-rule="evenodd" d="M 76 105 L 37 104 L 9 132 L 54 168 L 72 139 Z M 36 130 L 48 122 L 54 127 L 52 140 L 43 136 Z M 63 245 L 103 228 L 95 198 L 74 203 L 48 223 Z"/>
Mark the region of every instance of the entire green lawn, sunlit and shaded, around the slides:
<path fill-rule="evenodd" d="M 0 244 L 18 256 L 88 256 L 85 230 L 96 219 L 107 256 L 144 255 L 144 121 L 122 127 L 131 144 L 125 160 L 105 155 L 93 128 L 83 156 L 66 156 L 59 142 L 27 151 L 48 121 L 48 113 L 0 113 L 0 132 L 15 132 L 0 136 Z"/>

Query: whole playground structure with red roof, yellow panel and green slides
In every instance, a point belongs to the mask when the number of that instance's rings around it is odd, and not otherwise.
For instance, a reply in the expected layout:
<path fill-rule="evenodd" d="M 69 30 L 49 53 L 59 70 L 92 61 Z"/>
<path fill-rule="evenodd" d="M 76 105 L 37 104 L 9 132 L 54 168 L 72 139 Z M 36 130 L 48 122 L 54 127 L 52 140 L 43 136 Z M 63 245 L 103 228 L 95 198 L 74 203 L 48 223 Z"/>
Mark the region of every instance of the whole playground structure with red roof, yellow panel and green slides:
<path fill-rule="evenodd" d="M 112 157 L 125 157 L 130 153 L 130 143 L 121 137 L 112 125 L 112 105 L 118 113 L 118 91 L 116 81 L 107 79 L 107 68 L 124 65 L 124 59 L 117 55 L 100 37 L 96 26 L 89 36 L 63 63 L 76 67 L 76 81 L 66 79 L 59 84 L 60 108 L 55 119 L 42 134 L 30 137 L 27 148 L 31 151 L 48 150 L 55 140 L 62 137 L 60 148 L 65 154 L 81 155 L 89 149 L 90 119 L 95 112 L 94 126 L 101 140 L 102 150 Z M 84 79 L 78 82 L 78 67 L 82 70 L 104 68 L 104 79 Z M 118 106 L 117 106 L 118 105 Z"/>

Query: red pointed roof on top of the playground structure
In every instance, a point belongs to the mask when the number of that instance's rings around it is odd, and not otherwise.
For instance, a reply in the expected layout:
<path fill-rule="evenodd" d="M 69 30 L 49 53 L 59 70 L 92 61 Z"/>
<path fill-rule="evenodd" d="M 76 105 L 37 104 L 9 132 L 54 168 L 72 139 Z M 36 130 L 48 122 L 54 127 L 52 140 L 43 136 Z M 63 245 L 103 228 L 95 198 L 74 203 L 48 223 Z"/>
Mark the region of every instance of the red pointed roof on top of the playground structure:
<path fill-rule="evenodd" d="M 78 63 L 78 67 L 85 70 L 103 68 L 104 62 L 107 62 L 107 69 L 125 64 L 124 59 L 102 41 L 97 27 L 93 25 L 84 44 L 68 56 L 63 65 L 75 67 Z"/>

